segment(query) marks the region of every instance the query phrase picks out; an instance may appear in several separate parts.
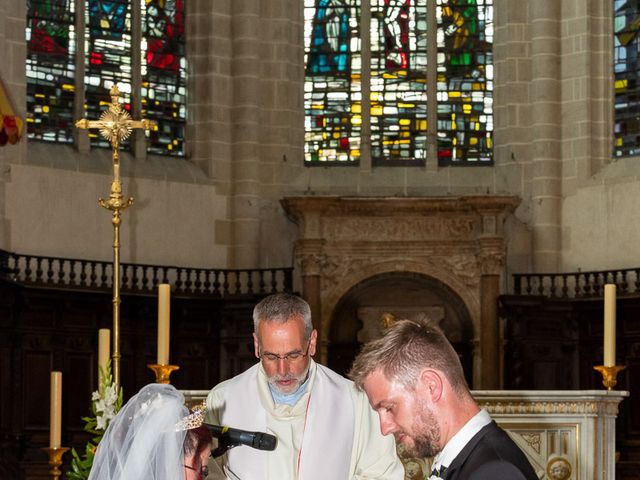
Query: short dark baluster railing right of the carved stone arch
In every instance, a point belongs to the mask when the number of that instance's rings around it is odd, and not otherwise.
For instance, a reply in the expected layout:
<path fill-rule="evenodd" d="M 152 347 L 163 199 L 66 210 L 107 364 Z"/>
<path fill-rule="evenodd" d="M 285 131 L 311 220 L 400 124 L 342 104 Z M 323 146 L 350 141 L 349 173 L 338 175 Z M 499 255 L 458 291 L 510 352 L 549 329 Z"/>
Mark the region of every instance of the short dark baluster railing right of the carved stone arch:
<path fill-rule="evenodd" d="M 640 294 L 640 268 L 571 273 L 517 273 L 513 275 L 513 293 L 554 298 L 601 297 L 606 283 L 615 283 L 619 294 Z"/>

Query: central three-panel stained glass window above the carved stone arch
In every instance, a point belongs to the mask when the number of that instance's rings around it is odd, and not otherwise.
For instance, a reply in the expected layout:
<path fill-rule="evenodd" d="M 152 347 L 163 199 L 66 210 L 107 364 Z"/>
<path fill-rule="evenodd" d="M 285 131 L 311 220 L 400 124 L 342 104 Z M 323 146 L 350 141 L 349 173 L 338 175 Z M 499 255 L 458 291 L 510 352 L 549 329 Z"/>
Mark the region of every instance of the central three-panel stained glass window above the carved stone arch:
<path fill-rule="evenodd" d="M 305 0 L 307 165 L 354 164 L 363 131 L 370 132 L 374 165 L 422 165 L 429 142 L 439 165 L 491 165 L 493 1 L 368 4 L 361 18 L 360 1 Z M 435 12 L 431 28 L 429 11 Z M 363 31 L 370 39 L 364 53 Z M 436 44 L 436 58 L 429 61 L 428 38 Z M 433 125 L 429 102 L 437 112 Z"/>

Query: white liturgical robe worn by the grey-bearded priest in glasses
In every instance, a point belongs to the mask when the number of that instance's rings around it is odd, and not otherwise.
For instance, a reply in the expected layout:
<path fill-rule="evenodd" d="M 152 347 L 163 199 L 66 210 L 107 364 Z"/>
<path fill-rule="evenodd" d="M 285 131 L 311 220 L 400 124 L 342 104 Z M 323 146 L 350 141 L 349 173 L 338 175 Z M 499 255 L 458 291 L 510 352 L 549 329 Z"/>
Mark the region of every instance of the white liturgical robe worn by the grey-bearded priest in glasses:
<path fill-rule="evenodd" d="M 394 439 L 382 436 L 378 415 L 366 395 L 350 380 L 313 360 L 307 390 L 293 406 L 274 403 L 258 363 L 211 390 L 206 421 L 278 438 L 271 452 L 248 446 L 229 450 L 222 463 L 232 472 L 228 474 L 231 478 L 404 478 Z"/>

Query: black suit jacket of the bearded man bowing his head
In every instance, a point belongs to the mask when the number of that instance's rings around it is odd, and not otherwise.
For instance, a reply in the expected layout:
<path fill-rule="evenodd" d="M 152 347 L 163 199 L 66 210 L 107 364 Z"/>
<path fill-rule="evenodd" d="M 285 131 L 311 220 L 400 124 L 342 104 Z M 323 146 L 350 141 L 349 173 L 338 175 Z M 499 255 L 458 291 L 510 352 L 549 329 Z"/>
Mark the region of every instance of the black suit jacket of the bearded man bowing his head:
<path fill-rule="evenodd" d="M 522 450 L 496 422 L 473 436 L 447 467 L 445 480 L 538 480 Z"/>

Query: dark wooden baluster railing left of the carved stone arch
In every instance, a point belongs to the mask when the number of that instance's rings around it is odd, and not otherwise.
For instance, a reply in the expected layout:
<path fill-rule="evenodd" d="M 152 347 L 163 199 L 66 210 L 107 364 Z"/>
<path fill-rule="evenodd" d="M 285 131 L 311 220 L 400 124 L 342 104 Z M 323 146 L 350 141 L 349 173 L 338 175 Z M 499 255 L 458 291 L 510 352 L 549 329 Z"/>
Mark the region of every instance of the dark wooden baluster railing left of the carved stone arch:
<path fill-rule="evenodd" d="M 121 291 L 151 293 L 170 283 L 174 294 L 260 295 L 291 291 L 293 268 L 214 269 L 122 263 Z M 99 260 L 23 255 L 0 250 L 0 276 L 47 288 L 111 290 L 113 265 Z"/>

